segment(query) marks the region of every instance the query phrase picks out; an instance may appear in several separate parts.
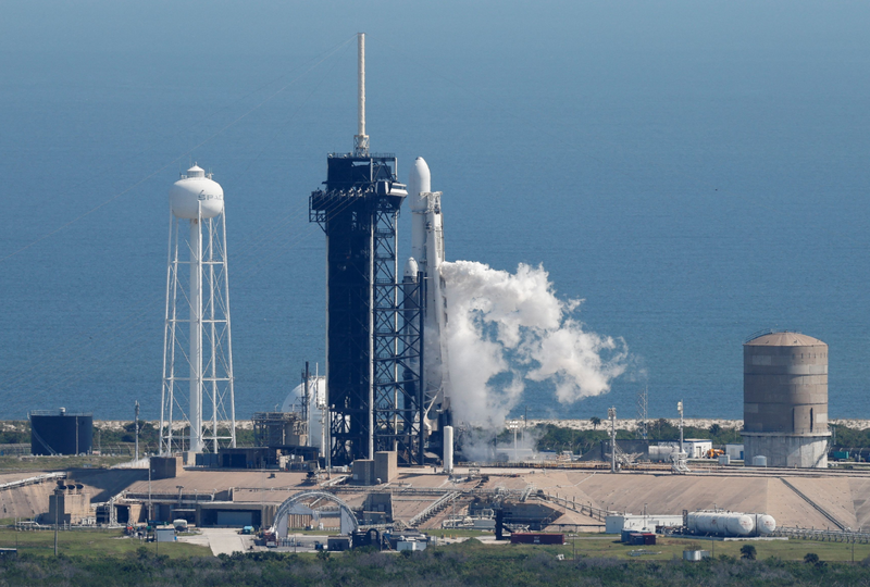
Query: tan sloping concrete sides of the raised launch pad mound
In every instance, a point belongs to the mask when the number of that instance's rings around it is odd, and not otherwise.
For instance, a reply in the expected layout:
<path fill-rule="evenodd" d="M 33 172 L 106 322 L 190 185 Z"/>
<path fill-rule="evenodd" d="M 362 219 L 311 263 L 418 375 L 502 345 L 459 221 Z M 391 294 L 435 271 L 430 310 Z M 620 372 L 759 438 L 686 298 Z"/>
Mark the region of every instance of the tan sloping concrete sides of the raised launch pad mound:
<path fill-rule="evenodd" d="M 450 517 L 462 515 L 475 500 L 504 496 L 515 502 L 536 503 L 552 511 L 551 529 L 589 532 L 602 529 L 600 516 L 589 508 L 612 512 L 682 514 L 683 510 L 719 508 L 748 513 L 768 513 L 778 526 L 858 530 L 870 528 L 870 473 L 813 471 L 759 471 L 730 467 L 718 472 L 674 475 L 667 472 L 611 474 L 588 470 L 486 469 L 470 478 L 468 470 L 450 477 L 432 469 L 401 469 L 389 484 L 352 485 L 349 476 L 333 475 L 319 482 L 302 473 L 281 471 L 183 470 L 176 477 L 152 479 L 146 471 L 104 470 L 71 472 L 91 489 L 91 503 L 176 504 L 252 510 L 277 508 L 284 500 L 306 490 L 335 492 L 351 508 L 366 508 L 372 494 L 388 494 L 391 521 L 421 529 L 439 529 Z M 34 476 L 35 473 L 26 474 Z M 8 478 L 14 475 L 8 475 Z M 48 512 L 48 496 L 57 482 L 34 484 L 0 491 L 0 510 L 7 519 L 32 519 Z M 446 495 L 449 503 L 424 520 L 418 514 L 431 509 Z M 531 507 L 531 505 L 530 505 Z M 584 509 L 585 507 L 585 509 Z M 130 510 L 133 511 L 133 510 Z M 263 515 L 268 515 L 265 509 Z M 266 522 L 266 519 L 263 519 Z M 326 528 L 328 529 L 328 528 Z"/>

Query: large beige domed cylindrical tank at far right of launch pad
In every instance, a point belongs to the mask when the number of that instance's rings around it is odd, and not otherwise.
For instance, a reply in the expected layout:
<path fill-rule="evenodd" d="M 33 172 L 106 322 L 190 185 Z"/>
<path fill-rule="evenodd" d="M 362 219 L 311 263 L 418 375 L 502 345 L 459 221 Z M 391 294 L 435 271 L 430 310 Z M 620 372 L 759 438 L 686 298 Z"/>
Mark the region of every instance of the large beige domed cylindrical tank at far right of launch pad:
<path fill-rule="evenodd" d="M 745 462 L 828 466 L 828 345 L 769 333 L 743 346 Z"/>

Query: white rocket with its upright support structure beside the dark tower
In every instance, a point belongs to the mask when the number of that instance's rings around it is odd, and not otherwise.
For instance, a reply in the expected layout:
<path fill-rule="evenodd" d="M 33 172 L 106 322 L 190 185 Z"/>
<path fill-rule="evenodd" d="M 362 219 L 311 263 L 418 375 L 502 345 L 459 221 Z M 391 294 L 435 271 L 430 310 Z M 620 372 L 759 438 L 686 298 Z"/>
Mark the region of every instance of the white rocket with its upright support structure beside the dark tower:
<path fill-rule="evenodd" d="M 447 374 L 447 347 L 443 341 L 447 327 L 447 300 L 440 265 L 444 261 L 444 220 L 442 192 L 432 191 L 428 165 L 418 157 L 408 180 L 410 200 L 411 252 L 406 264 L 406 276 L 415 268 L 425 279 L 423 385 L 427 420 L 437 420 L 438 412 L 449 408 Z"/>

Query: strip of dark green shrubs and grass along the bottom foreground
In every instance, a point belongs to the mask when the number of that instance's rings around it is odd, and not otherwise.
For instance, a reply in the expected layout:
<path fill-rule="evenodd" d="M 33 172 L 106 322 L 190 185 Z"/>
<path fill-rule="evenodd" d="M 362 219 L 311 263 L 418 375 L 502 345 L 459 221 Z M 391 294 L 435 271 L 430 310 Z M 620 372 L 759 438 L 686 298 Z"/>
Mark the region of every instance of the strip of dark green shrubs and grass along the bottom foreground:
<path fill-rule="evenodd" d="M 0 530 L 0 541 L 13 534 Z M 475 539 L 400 555 L 361 549 L 340 555 L 269 551 L 216 558 L 196 557 L 191 549 L 197 547 L 190 545 L 164 542 L 156 555 L 153 544 L 141 547 L 138 540 L 119 539 L 119 533 L 114 532 L 63 533 L 61 557 L 54 558 L 50 548 L 52 533 L 17 534 L 20 538 L 24 535 L 39 544 L 22 549 L 17 560 L 0 561 L 0 585 L 834 587 L 870 584 L 870 569 L 863 564 L 835 562 L 846 559 L 846 545 L 800 540 L 751 542 L 758 551 L 760 560 L 757 561 L 736 560 L 745 541 L 718 542 L 717 554 L 724 555 L 686 563 L 680 559 L 630 559 L 626 555 L 632 547 L 600 539 L 600 535 L 579 537 L 581 555 L 576 561 L 571 560 L 570 545 L 488 546 Z M 656 548 L 662 550 L 662 557 L 673 559 L 682 557 L 682 550 L 687 547 L 707 542 L 669 538 Z M 859 552 L 868 549 L 866 545 L 856 545 L 856 559 Z M 796 560 L 785 557 L 790 552 Z M 823 562 L 801 562 L 807 552 L 815 552 Z M 564 561 L 558 561 L 556 554 L 560 553 L 567 554 Z"/>

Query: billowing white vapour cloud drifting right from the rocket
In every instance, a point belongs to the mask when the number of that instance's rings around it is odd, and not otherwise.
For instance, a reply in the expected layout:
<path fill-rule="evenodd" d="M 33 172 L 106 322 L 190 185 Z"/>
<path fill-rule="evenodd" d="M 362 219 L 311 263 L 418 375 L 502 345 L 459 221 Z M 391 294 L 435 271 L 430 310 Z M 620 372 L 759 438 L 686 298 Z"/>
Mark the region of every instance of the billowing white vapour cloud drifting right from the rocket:
<path fill-rule="evenodd" d="M 472 261 L 440 265 L 447 288 L 450 402 L 458 422 L 498 426 L 525 382 L 550 382 L 571 403 L 610 390 L 626 370 L 622 339 L 583 329 L 580 300 L 556 297 L 543 266 L 515 274 Z"/>

